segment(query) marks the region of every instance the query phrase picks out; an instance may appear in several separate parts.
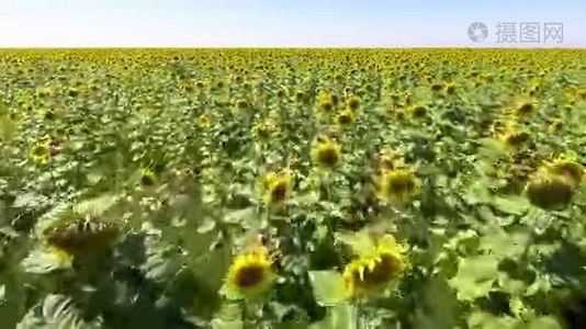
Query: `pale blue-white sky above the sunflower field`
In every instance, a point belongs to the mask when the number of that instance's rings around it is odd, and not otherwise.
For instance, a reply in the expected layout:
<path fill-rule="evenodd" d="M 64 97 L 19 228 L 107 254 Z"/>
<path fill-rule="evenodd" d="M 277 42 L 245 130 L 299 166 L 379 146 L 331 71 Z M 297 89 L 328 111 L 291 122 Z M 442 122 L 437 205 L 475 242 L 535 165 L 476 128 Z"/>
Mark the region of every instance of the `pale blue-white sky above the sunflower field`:
<path fill-rule="evenodd" d="M 0 47 L 586 47 L 585 14 L 584 0 L 0 0 Z M 564 41 L 499 44 L 498 22 L 560 22 Z"/>

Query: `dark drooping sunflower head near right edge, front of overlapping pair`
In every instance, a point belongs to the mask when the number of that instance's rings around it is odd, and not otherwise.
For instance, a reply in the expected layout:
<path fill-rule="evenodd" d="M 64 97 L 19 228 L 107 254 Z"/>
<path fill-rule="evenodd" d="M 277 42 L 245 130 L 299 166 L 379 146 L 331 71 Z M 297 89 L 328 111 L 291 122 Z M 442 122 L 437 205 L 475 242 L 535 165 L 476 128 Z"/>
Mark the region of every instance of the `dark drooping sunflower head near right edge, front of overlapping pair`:
<path fill-rule="evenodd" d="M 572 200 L 574 185 L 568 177 L 542 169 L 530 178 L 526 185 L 526 195 L 538 207 L 561 208 Z"/>

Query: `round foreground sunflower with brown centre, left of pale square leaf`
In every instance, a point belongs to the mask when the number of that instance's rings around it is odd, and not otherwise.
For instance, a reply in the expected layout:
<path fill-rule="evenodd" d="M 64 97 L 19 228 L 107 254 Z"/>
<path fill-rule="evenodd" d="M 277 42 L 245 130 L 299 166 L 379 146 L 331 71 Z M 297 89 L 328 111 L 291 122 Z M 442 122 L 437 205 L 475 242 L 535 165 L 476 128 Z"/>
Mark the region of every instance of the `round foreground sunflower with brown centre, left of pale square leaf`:
<path fill-rule="evenodd" d="M 273 259 L 263 246 L 256 246 L 236 256 L 226 274 L 226 293 L 237 298 L 261 297 L 277 280 L 272 263 Z"/>

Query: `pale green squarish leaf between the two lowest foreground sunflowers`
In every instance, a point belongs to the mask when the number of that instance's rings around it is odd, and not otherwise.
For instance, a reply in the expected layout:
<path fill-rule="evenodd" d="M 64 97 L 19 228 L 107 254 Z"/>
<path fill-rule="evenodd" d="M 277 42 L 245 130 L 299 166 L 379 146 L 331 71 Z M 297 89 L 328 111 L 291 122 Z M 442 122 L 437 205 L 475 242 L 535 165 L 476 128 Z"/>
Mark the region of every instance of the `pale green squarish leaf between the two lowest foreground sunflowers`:
<path fill-rule="evenodd" d="M 336 271 L 311 271 L 309 281 L 319 305 L 333 306 L 347 300 L 343 279 Z"/>

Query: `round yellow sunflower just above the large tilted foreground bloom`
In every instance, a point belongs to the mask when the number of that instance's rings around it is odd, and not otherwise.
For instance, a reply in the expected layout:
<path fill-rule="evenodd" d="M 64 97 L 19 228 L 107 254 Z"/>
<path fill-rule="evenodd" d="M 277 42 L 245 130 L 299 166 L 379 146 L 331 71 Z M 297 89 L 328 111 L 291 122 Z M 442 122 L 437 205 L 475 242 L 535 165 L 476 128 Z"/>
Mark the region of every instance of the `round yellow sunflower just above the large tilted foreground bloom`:
<path fill-rule="evenodd" d="M 384 170 L 379 178 L 379 198 L 399 206 L 417 194 L 419 179 L 409 168 Z"/>

